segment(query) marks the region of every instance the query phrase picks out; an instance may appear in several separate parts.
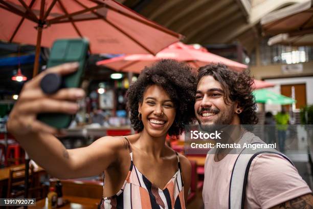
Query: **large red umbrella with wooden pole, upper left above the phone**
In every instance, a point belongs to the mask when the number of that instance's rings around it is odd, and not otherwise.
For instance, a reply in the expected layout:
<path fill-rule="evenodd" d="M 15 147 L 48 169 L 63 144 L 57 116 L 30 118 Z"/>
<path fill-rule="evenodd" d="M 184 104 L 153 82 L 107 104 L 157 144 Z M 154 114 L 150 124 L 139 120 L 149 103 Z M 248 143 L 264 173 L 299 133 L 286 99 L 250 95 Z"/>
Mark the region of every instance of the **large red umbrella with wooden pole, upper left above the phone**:
<path fill-rule="evenodd" d="M 92 53 L 156 54 L 182 39 L 113 0 L 0 0 L 0 40 L 40 46 L 86 37 Z"/>

